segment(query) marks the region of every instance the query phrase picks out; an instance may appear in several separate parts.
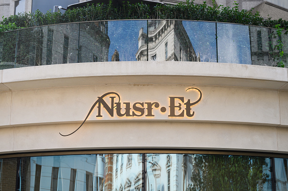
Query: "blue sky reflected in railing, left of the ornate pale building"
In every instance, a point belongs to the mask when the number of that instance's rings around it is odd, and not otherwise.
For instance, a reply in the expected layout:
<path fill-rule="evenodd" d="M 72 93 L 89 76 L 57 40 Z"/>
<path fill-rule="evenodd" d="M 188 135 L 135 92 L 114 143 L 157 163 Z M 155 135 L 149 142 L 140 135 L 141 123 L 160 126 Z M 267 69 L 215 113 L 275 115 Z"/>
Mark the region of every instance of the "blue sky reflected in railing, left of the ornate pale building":
<path fill-rule="evenodd" d="M 110 38 L 110 47 L 108 60 L 111 61 L 112 55 L 117 49 L 120 61 L 136 61 L 139 30 L 142 27 L 146 33 L 146 20 L 109 21 L 108 36 Z"/>

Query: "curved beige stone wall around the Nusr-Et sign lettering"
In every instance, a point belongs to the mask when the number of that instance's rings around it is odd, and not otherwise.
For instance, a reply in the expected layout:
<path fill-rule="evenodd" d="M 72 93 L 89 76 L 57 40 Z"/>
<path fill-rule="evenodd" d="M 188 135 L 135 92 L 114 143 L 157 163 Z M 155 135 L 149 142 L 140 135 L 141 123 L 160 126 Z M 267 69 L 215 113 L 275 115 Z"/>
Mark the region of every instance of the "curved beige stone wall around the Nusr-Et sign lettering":
<path fill-rule="evenodd" d="M 97 62 L 0 71 L 0 153 L 78 149 L 216 149 L 288 153 L 288 69 L 203 62 Z M 169 117 L 169 97 L 196 101 Z M 154 117 L 111 117 L 98 97 L 158 102 Z M 110 95 L 112 96 L 112 95 Z M 114 95 L 115 96 L 115 95 Z M 109 96 L 105 98 L 108 104 Z M 117 98 L 115 98 L 115 101 Z M 175 105 L 184 103 L 176 99 Z M 96 105 L 98 106 L 98 105 Z M 132 105 L 131 105 L 132 108 Z M 122 110 L 122 113 L 124 110 Z M 132 112 L 132 111 L 131 111 Z M 185 112 L 185 111 L 184 111 Z M 145 115 L 147 110 L 145 109 Z"/>

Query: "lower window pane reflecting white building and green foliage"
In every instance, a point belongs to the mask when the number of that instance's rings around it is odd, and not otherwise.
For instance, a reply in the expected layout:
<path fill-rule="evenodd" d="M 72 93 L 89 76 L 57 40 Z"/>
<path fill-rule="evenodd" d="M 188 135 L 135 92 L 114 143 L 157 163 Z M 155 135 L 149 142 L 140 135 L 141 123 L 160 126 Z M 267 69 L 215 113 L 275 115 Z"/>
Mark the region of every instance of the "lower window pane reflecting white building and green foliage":
<path fill-rule="evenodd" d="M 147 191 L 272 191 L 270 158 L 147 154 L 146 161 Z"/>

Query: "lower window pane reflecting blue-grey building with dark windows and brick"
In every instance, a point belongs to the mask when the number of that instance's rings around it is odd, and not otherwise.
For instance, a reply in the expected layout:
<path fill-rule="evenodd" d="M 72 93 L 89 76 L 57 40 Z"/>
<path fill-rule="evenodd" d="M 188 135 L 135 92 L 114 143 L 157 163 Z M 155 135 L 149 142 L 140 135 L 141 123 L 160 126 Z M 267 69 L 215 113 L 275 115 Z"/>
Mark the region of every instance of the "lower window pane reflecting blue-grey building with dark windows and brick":
<path fill-rule="evenodd" d="M 117 156 L 123 156 L 123 170 L 116 176 L 114 169 L 121 165 L 121 161 L 116 162 Z M 21 191 L 112 191 L 112 188 L 119 190 L 120 187 L 130 191 L 130 188 L 142 185 L 142 161 L 139 162 L 137 156 L 105 154 L 21 158 Z"/>

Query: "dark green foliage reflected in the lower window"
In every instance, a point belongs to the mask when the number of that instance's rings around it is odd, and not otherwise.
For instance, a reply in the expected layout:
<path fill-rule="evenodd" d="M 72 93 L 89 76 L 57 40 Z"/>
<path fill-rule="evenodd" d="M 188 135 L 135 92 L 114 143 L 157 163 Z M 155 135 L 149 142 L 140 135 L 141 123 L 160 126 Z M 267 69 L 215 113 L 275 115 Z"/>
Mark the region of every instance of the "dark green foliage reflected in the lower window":
<path fill-rule="evenodd" d="M 186 191 L 258 191 L 269 175 L 263 157 L 202 155 L 197 159 L 197 171 L 191 176 L 194 183 Z"/>

